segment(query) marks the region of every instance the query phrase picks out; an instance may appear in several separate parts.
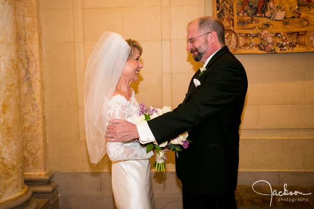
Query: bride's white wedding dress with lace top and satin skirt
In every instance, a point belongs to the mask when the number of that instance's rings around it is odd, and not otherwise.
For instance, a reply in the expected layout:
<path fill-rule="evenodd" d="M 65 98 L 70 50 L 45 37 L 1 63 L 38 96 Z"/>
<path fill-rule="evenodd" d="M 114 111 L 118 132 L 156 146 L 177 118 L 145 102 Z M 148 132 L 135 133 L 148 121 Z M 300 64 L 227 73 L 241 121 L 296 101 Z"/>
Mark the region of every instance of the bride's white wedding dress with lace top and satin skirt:
<path fill-rule="evenodd" d="M 136 123 L 139 105 L 134 91 L 130 101 L 115 95 L 110 101 L 107 118 L 121 118 Z M 108 142 L 107 154 L 112 161 L 112 191 L 115 206 L 120 209 L 155 208 L 151 183 L 150 161 L 153 155 L 137 141 Z"/>

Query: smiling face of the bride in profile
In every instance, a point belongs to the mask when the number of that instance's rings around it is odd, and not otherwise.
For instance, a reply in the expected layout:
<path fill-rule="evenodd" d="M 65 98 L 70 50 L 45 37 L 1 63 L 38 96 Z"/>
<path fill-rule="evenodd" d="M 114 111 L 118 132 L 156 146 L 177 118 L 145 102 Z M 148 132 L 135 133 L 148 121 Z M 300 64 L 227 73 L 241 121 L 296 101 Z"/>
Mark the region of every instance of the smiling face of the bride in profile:
<path fill-rule="evenodd" d="M 143 65 L 140 62 L 139 51 L 138 51 L 138 49 L 135 49 L 135 54 L 129 61 L 127 61 L 126 65 L 123 69 L 122 76 L 124 76 L 128 80 L 131 80 L 131 82 L 137 81 L 138 80 L 138 73 L 139 73 L 140 69 L 142 69 L 142 68 L 143 68 Z"/>

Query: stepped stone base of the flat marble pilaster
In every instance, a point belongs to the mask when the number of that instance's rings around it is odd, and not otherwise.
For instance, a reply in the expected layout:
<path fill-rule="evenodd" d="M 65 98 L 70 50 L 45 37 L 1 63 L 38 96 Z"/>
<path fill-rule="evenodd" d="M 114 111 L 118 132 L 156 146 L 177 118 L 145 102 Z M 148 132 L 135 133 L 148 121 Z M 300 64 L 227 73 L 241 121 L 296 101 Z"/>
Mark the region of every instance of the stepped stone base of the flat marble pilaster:
<path fill-rule="evenodd" d="M 51 209 L 59 209 L 58 184 L 51 181 L 52 172 L 45 174 L 24 174 L 25 184 L 35 199 L 49 199 Z"/>

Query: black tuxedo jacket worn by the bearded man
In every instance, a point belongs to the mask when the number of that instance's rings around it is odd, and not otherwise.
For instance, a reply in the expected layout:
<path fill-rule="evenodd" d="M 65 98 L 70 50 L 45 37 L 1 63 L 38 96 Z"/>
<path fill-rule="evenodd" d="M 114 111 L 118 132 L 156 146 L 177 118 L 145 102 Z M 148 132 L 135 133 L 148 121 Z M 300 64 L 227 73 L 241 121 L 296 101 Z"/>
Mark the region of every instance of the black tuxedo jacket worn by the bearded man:
<path fill-rule="evenodd" d="M 183 189 L 194 195 L 230 194 L 237 187 L 239 126 L 248 80 L 244 67 L 225 46 L 209 61 L 196 87 L 191 79 L 182 104 L 148 121 L 160 144 L 186 131 L 187 149 L 176 157 Z"/>

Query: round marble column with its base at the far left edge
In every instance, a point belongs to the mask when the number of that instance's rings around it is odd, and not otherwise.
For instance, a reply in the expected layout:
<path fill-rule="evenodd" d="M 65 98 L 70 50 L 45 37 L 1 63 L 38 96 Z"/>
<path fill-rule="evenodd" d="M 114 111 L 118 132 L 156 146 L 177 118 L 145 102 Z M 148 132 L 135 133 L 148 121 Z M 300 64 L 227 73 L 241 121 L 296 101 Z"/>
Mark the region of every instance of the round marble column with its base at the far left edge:
<path fill-rule="evenodd" d="M 0 0 L 0 208 L 36 208 L 24 184 L 15 3 Z"/>

